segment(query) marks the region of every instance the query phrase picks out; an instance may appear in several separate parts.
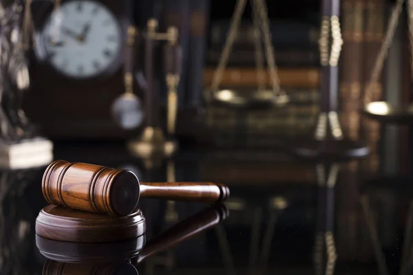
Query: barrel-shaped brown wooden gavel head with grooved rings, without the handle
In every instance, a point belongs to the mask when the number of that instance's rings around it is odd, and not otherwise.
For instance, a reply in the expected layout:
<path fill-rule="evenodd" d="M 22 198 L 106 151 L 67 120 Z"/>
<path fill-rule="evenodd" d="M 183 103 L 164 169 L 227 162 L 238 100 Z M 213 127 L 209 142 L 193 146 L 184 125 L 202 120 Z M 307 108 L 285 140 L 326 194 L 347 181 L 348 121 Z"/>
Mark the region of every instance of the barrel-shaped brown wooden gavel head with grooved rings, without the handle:
<path fill-rule="evenodd" d="M 140 188 L 129 170 L 56 160 L 43 174 L 42 192 L 56 206 L 126 216 L 136 208 Z"/>

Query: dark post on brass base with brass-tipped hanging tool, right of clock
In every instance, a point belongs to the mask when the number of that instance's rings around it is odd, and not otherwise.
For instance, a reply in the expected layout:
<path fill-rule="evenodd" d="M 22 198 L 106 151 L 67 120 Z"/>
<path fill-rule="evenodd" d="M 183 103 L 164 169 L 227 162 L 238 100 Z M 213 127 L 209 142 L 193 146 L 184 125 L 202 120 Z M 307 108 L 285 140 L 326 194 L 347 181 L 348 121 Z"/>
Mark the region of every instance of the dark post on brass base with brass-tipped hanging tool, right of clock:
<path fill-rule="evenodd" d="M 178 95 L 176 89 L 180 78 L 180 47 L 178 45 L 178 30 L 168 28 L 167 33 L 158 33 L 158 21 L 149 19 L 145 36 L 145 73 L 147 80 L 146 116 L 147 124 L 136 140 L 131 140 L 127 146 L 134 155 L 153 162 L 153 159 L 171 157 L 178 149 L 178 142 L 172 137 L 175 132 Z M 153 47 L 156 41 L 168 41 L 165 46 L 165 71 L 168 86 L 168 133 L 166 138 L 160 126 L 158 116 L 159 98 L 155 87 L 153 72 Z"/>

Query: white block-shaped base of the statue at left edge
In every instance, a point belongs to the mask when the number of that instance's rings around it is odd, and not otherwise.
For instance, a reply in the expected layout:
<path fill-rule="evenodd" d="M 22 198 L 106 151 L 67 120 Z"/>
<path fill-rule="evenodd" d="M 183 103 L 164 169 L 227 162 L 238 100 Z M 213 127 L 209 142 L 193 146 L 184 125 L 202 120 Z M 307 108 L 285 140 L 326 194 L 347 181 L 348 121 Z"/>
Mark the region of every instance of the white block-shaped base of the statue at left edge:
<path fill-rule="evenodd" d="M 25 169 L 45 166 L 53 160 L 53 143 L 42 137 L 0 143 L 0 167 Z"/>

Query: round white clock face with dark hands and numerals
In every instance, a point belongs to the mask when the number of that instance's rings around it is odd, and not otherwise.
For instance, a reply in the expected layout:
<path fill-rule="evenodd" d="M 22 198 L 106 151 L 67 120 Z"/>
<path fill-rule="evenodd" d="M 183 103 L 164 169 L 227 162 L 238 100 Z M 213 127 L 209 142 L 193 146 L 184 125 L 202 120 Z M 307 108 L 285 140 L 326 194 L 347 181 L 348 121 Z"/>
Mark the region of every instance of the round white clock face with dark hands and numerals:
<path fill-rule="evenodd" d="M 36 55 L 70 78 L 92 78 L 112 67 L 122 45 L 120 24 L 105 5 L 77 0 L 61 4 L 45 21 Z"/>

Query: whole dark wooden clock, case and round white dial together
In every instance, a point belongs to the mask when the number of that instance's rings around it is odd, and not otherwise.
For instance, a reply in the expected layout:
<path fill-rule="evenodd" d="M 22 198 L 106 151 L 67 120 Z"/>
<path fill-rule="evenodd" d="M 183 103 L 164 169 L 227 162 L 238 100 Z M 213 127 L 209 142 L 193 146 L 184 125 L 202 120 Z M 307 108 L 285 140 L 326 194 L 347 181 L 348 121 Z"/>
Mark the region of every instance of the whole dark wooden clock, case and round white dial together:
<path fill-rule="evenodd" d="M 110 108 L 125 91 L 130 2 L 32 0 L 31 89 L 24 106 L 46 135 L 54 139 L 127 135 L 112 120 Z"/>

